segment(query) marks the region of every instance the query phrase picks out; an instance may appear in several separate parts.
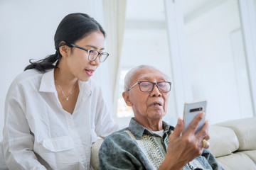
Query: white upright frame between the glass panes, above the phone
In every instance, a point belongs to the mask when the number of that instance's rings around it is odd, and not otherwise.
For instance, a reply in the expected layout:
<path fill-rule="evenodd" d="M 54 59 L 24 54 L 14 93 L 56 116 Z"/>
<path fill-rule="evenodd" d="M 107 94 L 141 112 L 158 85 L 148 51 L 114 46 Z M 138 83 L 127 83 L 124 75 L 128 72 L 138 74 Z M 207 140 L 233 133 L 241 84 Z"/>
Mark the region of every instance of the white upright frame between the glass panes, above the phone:
<path fill-rule="evenodd" d="M 188 77 L 188 56 L 186 54 L 185 33 L 181 1 L 164 0 L 166 24 L 169 37 L 172 77 L 176 115 L 182 118 L 183 103 L 192 100 L 190 77 Z M 186 86 L 184 86 L 186 84 Z"/>

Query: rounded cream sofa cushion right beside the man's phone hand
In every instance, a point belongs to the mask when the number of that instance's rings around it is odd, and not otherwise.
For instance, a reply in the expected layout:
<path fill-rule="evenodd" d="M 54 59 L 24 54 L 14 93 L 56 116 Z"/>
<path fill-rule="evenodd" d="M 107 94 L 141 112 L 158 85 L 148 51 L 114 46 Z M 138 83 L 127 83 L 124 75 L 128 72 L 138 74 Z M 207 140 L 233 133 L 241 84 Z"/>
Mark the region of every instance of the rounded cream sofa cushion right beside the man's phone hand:
<path fill-rule="evenodd" d="M 230 128 L 210 126 L 210 152 L 215 157 L 221 157 L 235 152 L 239 147 L 238 137 Z"/>

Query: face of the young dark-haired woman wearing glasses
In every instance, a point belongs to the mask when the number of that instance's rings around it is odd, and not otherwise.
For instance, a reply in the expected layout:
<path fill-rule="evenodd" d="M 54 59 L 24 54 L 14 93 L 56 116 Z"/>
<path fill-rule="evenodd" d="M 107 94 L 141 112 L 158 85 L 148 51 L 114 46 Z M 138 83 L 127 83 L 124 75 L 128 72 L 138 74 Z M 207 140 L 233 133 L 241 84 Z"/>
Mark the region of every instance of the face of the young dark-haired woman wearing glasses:
<path fill-rule="evenodd" d="M 92 32 L 85 38 L 75 42 L 75 45 L 84 47 L 87 50 L 104 50 L 104 35 L 100 31 Z M 87 81 L 92 76 L 95 69 L 100 65 L 99 56 L 94 61 L 88 60 L 88 52 L 77 47 L 72 47 L 67 57 L 67 65 L 73 76 L 80 81 Z"/>

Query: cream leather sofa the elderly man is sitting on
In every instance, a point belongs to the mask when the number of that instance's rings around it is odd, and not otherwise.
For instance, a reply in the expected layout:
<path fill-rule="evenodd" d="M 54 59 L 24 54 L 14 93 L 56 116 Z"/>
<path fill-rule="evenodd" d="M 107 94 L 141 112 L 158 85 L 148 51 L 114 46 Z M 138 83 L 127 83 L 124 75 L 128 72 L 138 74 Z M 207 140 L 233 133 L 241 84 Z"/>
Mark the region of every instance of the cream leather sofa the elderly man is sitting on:
<path fill-rule="evenodd" d="M 210 125 L 210 152 L 225 170 L 256 170 L 256 118 L 229 120 Z M 92 168 L 99 169 L 102 139 L 92 144 Z"/>

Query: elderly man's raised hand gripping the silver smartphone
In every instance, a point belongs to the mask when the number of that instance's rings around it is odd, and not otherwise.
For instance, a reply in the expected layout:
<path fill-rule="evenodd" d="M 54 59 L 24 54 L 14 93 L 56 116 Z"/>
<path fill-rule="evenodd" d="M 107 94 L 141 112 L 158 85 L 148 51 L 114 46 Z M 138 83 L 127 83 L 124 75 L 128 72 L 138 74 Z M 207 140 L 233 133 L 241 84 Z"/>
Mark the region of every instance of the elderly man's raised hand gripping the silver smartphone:
<path fill-rule="evenodd" d="M 196 132 L 203 117 L 204 113 L 198 113 L 188 125 L 186 132 L 184 132 L 185 124 L 183 120 L 178 118 L 174 132 L 169 136 L 166 159 L 164 159 L 164 162 L 169 163 L 171 169 L 182 169 L 188 162 L 203 154 L 203 149 L 209 147 L 203 147 L 203 140 L 210 139 L 208 121 L 206 120 L 201 130 Z"/>

